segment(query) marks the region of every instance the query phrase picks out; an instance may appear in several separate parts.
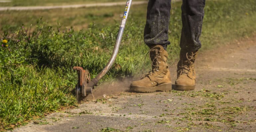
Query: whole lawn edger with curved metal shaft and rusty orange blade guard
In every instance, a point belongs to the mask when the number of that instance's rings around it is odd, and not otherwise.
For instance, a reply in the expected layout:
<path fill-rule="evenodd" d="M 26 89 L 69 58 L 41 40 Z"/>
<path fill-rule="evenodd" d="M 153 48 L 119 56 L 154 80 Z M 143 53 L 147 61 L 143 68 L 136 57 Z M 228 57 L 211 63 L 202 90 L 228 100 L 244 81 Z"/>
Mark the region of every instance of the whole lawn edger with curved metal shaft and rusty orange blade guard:
<path fill-rule="evenodd" d="M 82 100 L 84 97 L 86 97 L 88 93 L 92 93 L 92 89 L 94 89 L 94 86 L 97 86 L 97 83 L 99 82 L 99 80 L 109 71 L 109 69 L 113 65 L 121 44 L 122 36 L 124 33 L 124 27 L 128 17 L 130 7 L 131 7 L 131 3 L 132 3 L 132 0 L 127 0 L 126 2 L 125 11 L 119 27 L 115 47 L 114 47 L 112 56 L 109 59 L 107 65 L 104 67 L 104 69 L 94 79 L 91 80 L 88 70 L 84 70 L 82 67 L 79 67 L 79 66 L 73 67 L 73 69 L 77 71 L 77 75 L 78 75 L 78 82 L 75 87 L 75 96 L 77 101 Z"/>

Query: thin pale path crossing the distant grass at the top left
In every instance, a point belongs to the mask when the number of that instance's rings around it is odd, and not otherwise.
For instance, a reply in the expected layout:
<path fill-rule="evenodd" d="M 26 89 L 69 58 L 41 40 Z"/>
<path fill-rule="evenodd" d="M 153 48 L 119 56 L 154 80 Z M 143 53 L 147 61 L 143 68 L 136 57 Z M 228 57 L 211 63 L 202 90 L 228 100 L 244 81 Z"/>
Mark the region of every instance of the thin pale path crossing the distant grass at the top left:
<path fill-rule="evenodd" d="M 133 1 L 133 5 L 145 4 L 148 1 Z M 107 7 L 125 5 L 124 2 L 108 2 L 108 3 L 93 3 L 93 4 L 78 4 L 78 5 L 61 5 L 61 6 L 16 6 L 16 7 L 0 7 L 0 11 L 22 11 L 22 10 L 49 10 L 49 9 L 65 9 L 65 8 L 82 8 L 82 7 Z"/>

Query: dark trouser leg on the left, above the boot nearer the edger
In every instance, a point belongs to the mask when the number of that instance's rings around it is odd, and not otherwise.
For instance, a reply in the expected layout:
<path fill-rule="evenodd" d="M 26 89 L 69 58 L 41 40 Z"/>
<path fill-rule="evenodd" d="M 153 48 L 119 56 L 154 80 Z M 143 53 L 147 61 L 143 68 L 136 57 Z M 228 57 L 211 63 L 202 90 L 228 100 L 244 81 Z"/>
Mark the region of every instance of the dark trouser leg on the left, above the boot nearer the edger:
<path fill-rule="evenodd" d="M 168 41 L 170 10 L 171 0 L 149 0 L 144 29 L 144 42 L 149 47 L 162 45 L 166 49 L 170 44 Z"/>

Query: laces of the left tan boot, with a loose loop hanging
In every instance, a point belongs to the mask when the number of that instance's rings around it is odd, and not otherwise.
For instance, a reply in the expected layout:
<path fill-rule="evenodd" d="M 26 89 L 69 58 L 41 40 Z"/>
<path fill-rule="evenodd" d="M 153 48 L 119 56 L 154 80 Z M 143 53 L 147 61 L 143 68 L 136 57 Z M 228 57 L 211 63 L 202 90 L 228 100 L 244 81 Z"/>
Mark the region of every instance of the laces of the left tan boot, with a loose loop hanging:
<path fill-rule="evenodd" d="M 154 53 L 154 54 L 152 54 L 152 53 Z M 144 66 L 145 66 L 146 58 L 148 55 L 149 55 L 149 59 L 151 60 L 150 63 L 151 63 L 152 70 L 149 71 L 147 74 L 145 74 L 142 78 L 152 76 L 155 73 L 155 71 L 159 71 L 158 70 L 158 68 L 159 68 L 159 60 L 158 59 L 161 58 L 161 56 L 159 54 L 160 54 L 160 51 L 158 49 L 150 49 L 147 52 L 145 59 L 144 59 L 144 63 L 143 63 L 142 74 L 144 74 Z M 152 59 L 152 57 L 154 57 L 154 58 Z"/>

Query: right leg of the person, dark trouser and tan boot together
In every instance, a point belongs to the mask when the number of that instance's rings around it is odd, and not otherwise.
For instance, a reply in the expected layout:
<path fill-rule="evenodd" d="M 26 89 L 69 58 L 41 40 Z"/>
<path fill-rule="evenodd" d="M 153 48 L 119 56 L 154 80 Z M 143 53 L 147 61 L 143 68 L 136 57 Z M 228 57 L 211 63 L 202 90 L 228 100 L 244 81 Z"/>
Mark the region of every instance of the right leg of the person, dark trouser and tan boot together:
<path fill-rule="evenodd" d="M 205 0 L 183 0 L 180 60 L 177 65 L 176 90 L 193 90 L 195 87 L 194 61 L 201 48 L 199 37 L 202 30 Z"/>

